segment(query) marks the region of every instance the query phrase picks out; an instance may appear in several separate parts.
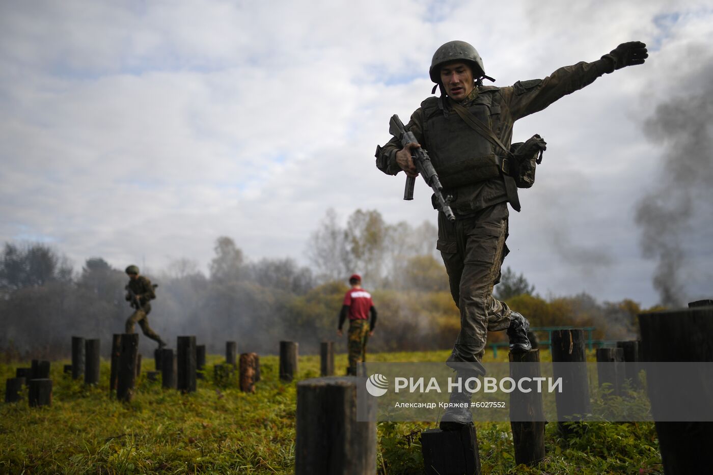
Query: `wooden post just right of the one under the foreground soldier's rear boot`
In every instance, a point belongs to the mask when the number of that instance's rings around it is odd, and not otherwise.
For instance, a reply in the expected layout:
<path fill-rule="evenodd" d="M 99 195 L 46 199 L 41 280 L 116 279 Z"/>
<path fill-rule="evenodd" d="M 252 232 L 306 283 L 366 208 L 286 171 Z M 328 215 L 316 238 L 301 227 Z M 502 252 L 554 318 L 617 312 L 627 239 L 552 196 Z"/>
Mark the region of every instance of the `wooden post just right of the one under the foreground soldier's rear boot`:
<path fill-rule="evenodd" d="M 552 352 L 553 376 L 562 378 L 562 392 L 555 393 L 557 419 L 564 435 L 572 433 L 564 421 L 580 421 L 584 414 L 592 412 L 589 399 L 589 380 L 585 358 L 585 332 L 581 329 L 553 330 L 550 351 Z M 562 364 L 558 364 L 561 362 Z"/>

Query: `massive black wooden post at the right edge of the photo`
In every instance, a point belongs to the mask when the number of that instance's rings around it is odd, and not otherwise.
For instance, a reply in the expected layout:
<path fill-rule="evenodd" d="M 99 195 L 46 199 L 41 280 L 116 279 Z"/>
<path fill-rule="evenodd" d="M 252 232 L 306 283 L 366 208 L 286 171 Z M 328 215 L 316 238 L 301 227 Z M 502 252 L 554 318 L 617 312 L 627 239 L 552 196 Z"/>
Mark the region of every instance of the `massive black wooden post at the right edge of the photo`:
<path fill-rule="evenodd" d="M 713 362 L 713 307 L 691 307 L 639 315 L 642 360 L 644 362 Z M 678 404 L 698 404 L 701 414 L 710 413 L 713 392 L 707 381 L 686 380 L 691 392 L 677 394 L 676 379 L 689 375 L 647 372 L 647 387 L 652 414 Z M 673 390 L 672 390 L 673 388 Z M 661 459 L 666 475 L 698 474 L 710 466 L 709 451 L 713 442 L 713 422 L 656 422 Z"/>

